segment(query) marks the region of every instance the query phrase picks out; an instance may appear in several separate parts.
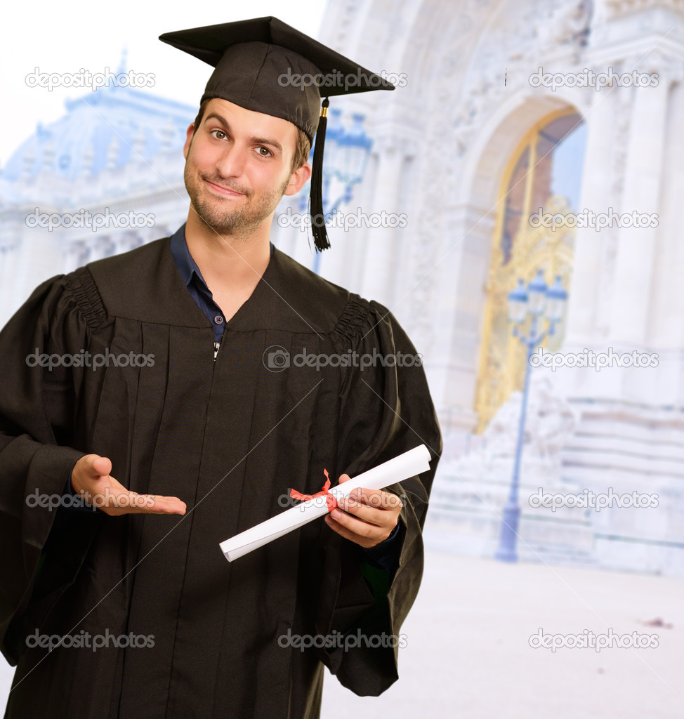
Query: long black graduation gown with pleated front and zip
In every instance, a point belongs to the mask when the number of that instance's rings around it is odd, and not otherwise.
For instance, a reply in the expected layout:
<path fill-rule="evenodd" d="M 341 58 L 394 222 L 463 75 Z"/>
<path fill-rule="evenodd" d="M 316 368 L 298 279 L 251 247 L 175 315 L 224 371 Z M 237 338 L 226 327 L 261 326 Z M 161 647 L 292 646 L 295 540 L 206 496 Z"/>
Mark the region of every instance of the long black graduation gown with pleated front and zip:
<path fill-rule="evenodd" d="M 324 666 L 358 695 L 397 679 L 396 640 L 301 651 L 282 637 L 400 634 L 442 449 L 424 371 L 296 355 L 416 350 L 386 308 L 277 249 L 216 361 L 213 342 L 168 239 L 47 280 L 0 333 L 0 629 L 18 662 L 7 718 L 316 718 Z M 119 366 L 26 360 L 84 351 Z M 284 511 L 289 487 L 316 493 L 324 469 L 336 484 L 421 442 L 431 470 L 391 488 L 405 495 L 392 574 L 322 519 L 224 559 L 219 542 Z M 88 453 L 124 487 L 178 496 L 186 515 L 25 500 L 61 495 Z M 47 651 L 27 647 L 36 632 L 109 639 Z"/>

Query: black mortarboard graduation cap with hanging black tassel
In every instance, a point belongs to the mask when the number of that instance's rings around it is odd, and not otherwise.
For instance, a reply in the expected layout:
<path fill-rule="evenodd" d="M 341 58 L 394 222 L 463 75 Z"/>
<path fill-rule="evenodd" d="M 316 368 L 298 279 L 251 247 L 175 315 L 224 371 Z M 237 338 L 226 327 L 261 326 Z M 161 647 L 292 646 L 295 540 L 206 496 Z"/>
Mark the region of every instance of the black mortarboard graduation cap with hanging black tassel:
<path fill-rule="evenodd" d="M 276 17 L 165 32 L 159 39 L 215 68 L 201 102 L 221 98 L 289 120 L 311 142 L 316 136 L 311 230 L 319 251 L 330 247 L 322 198 L 328 97 L 393 90 L 393 84 Z"/>

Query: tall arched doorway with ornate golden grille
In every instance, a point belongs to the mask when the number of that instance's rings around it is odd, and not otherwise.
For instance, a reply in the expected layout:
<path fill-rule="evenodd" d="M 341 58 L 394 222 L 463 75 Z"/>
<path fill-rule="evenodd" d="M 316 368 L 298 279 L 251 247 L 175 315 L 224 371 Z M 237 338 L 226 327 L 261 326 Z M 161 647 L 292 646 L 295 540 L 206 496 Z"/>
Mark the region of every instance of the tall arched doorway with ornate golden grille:
<path fill-rule="evenodd" d="M 524 348 L 509 329 L 509 292 L 518 278 L 528 282 L 538 269 L 544 271 L 547 283 L 560 275 L 565 288 L 570 287 L 574 227 L 548 227 L 530 218 L 540 211 L 564 216 L 580 211 L 585 140 L 585 123 L 575 109 L 554 111 L 529 129 L 503 173 L 485 284 L 475 392 L 479 432 L 511 392 L 521 389 L 524 379 Z M 552 352 L 560 347 L 563 331 L 561 323 L 544 347 Z"/>

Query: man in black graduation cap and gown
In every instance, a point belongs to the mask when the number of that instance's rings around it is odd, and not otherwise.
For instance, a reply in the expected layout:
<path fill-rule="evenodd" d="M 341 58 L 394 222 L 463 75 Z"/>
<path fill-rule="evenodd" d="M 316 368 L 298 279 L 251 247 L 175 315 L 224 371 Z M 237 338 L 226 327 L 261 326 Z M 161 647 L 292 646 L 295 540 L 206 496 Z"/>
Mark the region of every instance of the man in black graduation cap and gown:
<path fill-rule="evenodd" d="M 419 361 L 397 359 L 415 349 L 269 242 L 319 103 L 274 73 L 350 61 L 274 18 L 163 37 L 216 65 L 183 148 L 186 224 L 47 280 L 0 334 L 8 718 L 318 717 L 324 666 L 360 695 L 396 680 L 421 578 L 441 439 Z M 290 361 L 311 354 L 383 361 Z M 288 487 L 421 443 L 430 472 L 222 556 Z"/>

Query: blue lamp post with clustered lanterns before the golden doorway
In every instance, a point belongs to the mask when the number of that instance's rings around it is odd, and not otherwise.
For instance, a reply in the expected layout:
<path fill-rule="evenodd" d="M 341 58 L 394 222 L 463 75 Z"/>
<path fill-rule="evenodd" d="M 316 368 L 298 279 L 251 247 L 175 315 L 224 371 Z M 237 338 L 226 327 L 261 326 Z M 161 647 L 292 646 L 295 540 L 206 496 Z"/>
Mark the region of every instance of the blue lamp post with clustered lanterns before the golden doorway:
<path fill-rule="evenodd" d="M 544 282 L 544 270 L 538 270 L 537 276 L 525 287 L 523 280 L 518 280 L 518 286 L 509 294 L 509 321 L 513 323 L 513 334 L 519 337 L 526 347 L 525 383 L 520 406 L 520 420 L 518 423 L 518 439 L 516 441 L 516 454 L 513 465 L 513 477 L 509 499 L 503 508 L 501 519 L 501 536 L 498 549 L 494 555 L 501 562 L 517 562 L 516 541 L 518 538 L 518 525 L 520 521 L 520 506 L 518 504 L 518 489 L 520 486 L 520 460 L 525 436 L 525 418 L 527 413 L 527 399 L 529 395 L 530 357 L 544 337 L 555 332 L 556 324 L 562 320 L 565 313 L 567 292 L 562 286 L 560 275 L 555 283 L 547 287 Z M 530 316 L 529 335 L 521 334 L 527 316 Z M 543 319 L 548 322 L 547 329 L 537 334 L 537 324 Z"/>

